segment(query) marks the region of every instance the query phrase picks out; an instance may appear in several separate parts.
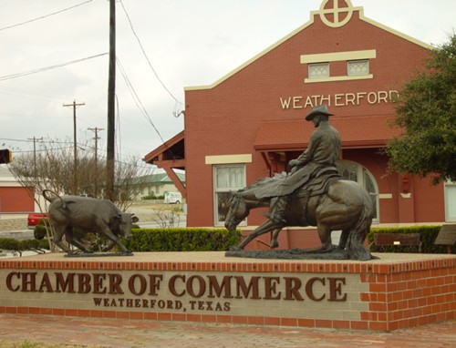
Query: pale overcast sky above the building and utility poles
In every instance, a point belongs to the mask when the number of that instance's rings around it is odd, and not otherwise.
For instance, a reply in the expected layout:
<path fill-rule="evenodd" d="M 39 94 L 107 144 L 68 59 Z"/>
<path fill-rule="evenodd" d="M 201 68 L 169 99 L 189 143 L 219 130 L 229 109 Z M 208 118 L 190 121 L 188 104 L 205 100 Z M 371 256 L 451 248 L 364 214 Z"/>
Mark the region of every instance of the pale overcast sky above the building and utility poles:
<path fill-rule="evenodd" d="M 118 2 L 117 56 L 125 74 L 118 65 L 116 132 L 121 158 L 142 158 L 161 145 L 161 138 L 167 140 L 183 129 L 183 116 L 174 113 L 183 108 L 184 87 L 212 84 L 304 25 L 320 4 L 321 0 Z M 363 6 L 369 18 L 432 45 L 448 41 L 456 27 L 454 0 L 352 4 Z M 88 128 L 104 128 L 98 132 L 104 155 L 109 58 L 103 54 L 109 52 L 109 1 L 0 0 L 0 8 L 0 148 L 29 150 L 33 146 L 27 139 L 33 137 L 72 141 L 73 109 L 63 105 L 76 99 L 85 103 L 77 109 L 78 142 L 93 138 Z M 86 59 L 91 56 L 98 57 Z M 43 69 L 75 60 L 82 61 Z"/>

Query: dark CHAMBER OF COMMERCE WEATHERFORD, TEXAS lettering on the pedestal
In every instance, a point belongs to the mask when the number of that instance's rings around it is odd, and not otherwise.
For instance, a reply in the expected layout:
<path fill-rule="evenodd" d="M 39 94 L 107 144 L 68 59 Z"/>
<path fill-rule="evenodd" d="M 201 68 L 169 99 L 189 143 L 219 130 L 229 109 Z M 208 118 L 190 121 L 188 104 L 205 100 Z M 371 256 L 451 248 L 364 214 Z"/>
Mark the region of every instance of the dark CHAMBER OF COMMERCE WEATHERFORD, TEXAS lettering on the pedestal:
<path fill-rule="evenodd" d="M 232 302 L 347 302 L 346 277 L 337 275 L 223 275 L 189 273 L 11 271 L 10 292 L 91 295 L 95 307 L 230 312 Z M 306 308 L 306 305 L 303 305 Z"/>

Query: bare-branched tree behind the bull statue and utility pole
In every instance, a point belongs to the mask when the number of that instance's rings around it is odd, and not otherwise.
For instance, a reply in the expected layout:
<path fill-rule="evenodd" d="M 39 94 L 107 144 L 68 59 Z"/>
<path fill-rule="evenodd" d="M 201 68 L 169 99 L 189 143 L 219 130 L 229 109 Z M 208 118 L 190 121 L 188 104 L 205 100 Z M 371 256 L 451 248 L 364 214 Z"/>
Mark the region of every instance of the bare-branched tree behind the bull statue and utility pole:
<path fill-rule="evenodd" d="M 48 141 L 43 149 L 34 153 L 17 155 L 9 169 L 23 187 L 35 188 L 36 203 L 40 205 L 39 195 L 44 189 L 58 194 L 87 195 L 104 198 L 106 192 L 106 160 L 96 159 L 95 153 L 87 144 L 79 145 L 77 180 L 74 174 L 74 154 L 71 142 Z M 131 200 L 136 200 L 147 185 L 147 174 L 140 159 L 115 164 L 116 200 L 119 209 L 126 210 Z M 144 178 L 144 179 L 140 179 Z M 131 182 L 134 181 L 134 185 Z M 75 188 L 76 185 L 76 188 Z M 44 207 L 40 207 L 43 209 Z"/>

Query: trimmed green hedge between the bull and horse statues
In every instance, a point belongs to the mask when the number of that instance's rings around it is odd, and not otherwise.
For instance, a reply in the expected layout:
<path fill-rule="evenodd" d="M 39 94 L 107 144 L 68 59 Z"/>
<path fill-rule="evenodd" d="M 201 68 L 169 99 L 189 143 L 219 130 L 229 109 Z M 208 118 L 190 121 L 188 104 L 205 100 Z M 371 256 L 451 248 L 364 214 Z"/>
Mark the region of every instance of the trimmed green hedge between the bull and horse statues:
<path fill-rule="evenodd" d="M 130 251 L 227 251 L 241 241 L 241 231 L 224 229 L 133 229 L 124 241 Z"/>

